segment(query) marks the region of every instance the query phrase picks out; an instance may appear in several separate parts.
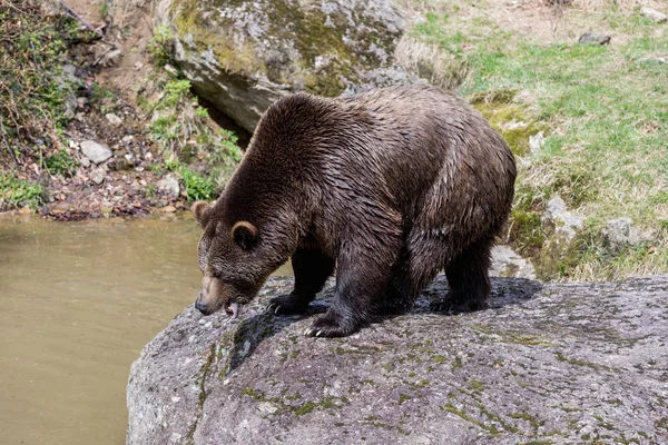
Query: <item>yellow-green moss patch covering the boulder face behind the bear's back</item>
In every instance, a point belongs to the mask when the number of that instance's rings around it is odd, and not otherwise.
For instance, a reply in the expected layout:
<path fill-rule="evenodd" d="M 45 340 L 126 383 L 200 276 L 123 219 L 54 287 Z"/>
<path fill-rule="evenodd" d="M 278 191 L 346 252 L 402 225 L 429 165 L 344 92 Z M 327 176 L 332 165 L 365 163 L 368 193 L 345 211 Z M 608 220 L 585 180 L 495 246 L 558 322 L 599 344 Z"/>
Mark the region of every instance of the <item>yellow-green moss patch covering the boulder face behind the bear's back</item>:
<path fill-rule="evenodd" d="M 244 7 L 244 2 L 236 0 L 219 0 L 215 4 Z M 289 67 L 284 67 L 281 55 L 277 60 L 264 60 L 252 37 L 246 38 L 239 49 L 232 38 L 220 36 L 220 29 L 236 24 L 216 14 L 214 19 L 204 17 L 203 8 L 196 0 L 173 3 L 170 13 L 181 39 L 191 36 L 199 50 L 210 49 L 228 72 L 248 77 L 262 73 L 275 83 L 302 83 L 305 91 L 321 96 L 341 95 L 346 88 L 345 80 L 358 80 L 357 68 L 380 66 L 382 61 L 375 48 L 392 53 L 399 38 L 399 32 L 391 31 L 384 23 L 372 22 L 362 4 L 353 11 L 353 18 L 363 27 L 353 27 L 348 17 L 337 10 L 324 13 L 318 8 L 306 8 L 289 0 L 266 1 L 262 3 L 271 14 L 266 34 L 292 42 L 299 55 L 297 60 L 288 63 Z M 348 40 L 356 44 L 351 46 Z M 286 53 L 285 59 L 288 57 Z M 315 71 L 318 63 L 321 67 Z"/>

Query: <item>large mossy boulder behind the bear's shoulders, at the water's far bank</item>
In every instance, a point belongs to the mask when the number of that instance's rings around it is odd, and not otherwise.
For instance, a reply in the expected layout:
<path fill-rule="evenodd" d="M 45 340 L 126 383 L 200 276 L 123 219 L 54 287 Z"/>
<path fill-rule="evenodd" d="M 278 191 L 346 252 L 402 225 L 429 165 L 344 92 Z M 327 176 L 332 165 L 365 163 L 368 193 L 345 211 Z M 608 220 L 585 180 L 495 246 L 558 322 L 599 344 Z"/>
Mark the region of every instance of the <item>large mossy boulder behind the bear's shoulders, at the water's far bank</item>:
<path fill-rule="evenodd" d="M 405 83 L 404 20 L 390 0 L 160 0 L 156 24 L 196 92 L 253 131 L 281 96 L 338 96 Z"/>

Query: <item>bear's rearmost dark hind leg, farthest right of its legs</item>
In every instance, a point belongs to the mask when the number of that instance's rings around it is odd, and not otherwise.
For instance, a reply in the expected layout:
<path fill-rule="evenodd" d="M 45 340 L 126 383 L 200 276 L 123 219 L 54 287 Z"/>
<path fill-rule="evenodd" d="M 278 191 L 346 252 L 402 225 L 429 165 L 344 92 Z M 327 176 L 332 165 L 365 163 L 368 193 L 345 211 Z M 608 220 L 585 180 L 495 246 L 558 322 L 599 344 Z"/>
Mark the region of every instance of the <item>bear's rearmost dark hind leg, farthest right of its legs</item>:
<path fill-rule="evenodd" d="M 466 247 L 445 266 L 450 290 L 432 308 L 436 312 L 472 312 L 484 308 L 490 294 L 490 255 L 493 237 L 484 237 Z"/>

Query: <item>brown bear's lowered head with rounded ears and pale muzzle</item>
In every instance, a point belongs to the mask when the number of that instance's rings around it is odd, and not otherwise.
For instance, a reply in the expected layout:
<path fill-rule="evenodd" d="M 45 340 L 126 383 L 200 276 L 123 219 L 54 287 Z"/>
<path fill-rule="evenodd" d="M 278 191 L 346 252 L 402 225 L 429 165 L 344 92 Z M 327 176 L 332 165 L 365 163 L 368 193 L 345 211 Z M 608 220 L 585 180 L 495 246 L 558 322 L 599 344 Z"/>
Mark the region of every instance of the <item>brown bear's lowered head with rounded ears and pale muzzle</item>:
<path fill-rule="evenodd" d="M 195 202 L 195 218 L 204 229 L 198 264 L 204 274 L 195 307 L 204 315 L 225 308 L 236 317 L 239 305 L 250 301 L 275 270 L 262 244 L 258 227 L 245 220 L 228 221 L 223 206 Z"/>

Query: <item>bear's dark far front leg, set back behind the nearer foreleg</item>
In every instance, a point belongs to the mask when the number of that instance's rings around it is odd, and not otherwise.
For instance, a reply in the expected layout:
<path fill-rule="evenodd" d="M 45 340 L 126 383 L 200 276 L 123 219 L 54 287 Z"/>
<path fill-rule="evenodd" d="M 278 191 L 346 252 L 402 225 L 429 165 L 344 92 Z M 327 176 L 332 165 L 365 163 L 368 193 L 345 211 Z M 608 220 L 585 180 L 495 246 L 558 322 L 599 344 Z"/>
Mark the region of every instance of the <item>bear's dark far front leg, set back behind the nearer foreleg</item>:
<path fill-rule="evenodd" d="M 301 314 L 322 290 L 334 273 L 335 260 L 318 249 L 299 248 L 292 256 L 295 288 L 289 295 L 272 298 L 267 312 L 274 314 Z"/>

